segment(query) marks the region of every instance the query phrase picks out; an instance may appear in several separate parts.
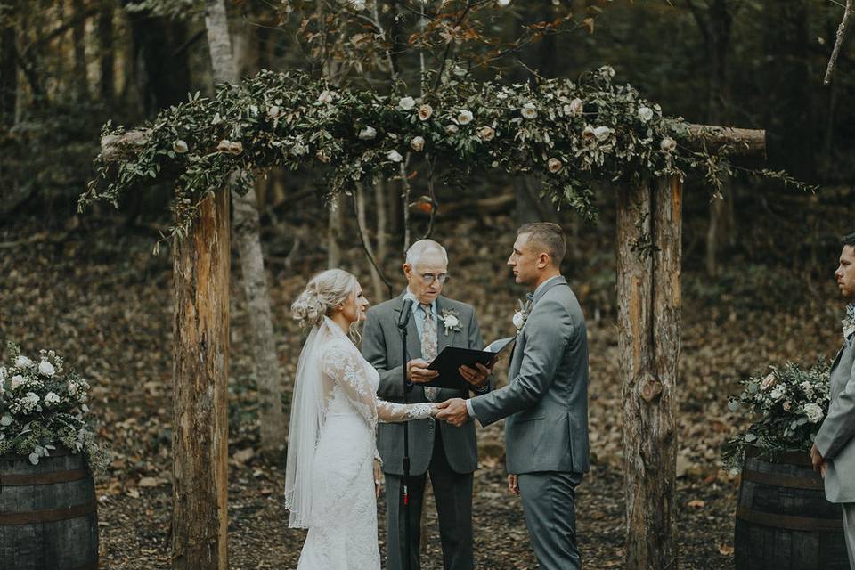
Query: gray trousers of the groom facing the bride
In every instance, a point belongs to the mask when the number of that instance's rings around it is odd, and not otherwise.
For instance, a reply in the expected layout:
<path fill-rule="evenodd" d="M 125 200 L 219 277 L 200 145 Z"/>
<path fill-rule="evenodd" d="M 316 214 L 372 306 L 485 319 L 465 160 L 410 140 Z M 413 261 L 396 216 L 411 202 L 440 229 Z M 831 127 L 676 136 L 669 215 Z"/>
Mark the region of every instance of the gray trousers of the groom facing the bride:
<path fill-rule="evenodd" d="M 540 570 L 581 570 L 575 489 L 582 482 L 582 473 L 539 471 L 518 477 L 525 525 Z"/>

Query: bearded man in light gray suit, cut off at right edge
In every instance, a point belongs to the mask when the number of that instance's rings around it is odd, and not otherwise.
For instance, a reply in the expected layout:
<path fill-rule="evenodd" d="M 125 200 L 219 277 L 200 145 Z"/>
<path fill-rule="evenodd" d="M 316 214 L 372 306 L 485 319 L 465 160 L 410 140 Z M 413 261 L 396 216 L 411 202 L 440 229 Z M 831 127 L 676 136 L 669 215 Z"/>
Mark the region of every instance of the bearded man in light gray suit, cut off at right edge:
<path fill-rule="evenodd" d="M 835 279 L 849 305 L 843 347 L 831 367 L 831 404 L 810 455 L 826 479 L 826 499 L 843 508 L 849 566 L 855 570 L 855 233 L 843 238 Z"/>

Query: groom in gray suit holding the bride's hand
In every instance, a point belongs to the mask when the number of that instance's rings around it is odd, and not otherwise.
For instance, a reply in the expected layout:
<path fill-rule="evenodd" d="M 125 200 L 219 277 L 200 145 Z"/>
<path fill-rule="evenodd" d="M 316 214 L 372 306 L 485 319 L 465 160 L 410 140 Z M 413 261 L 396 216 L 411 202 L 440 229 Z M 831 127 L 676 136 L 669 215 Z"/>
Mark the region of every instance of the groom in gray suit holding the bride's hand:
<path fill-rule="evenodd" d="M 576 548 L 576 485 L 589 469 L 588 338 L 582 308 L 561 276 L 566 250 L 558 224 L 525 224 L 508 265 L 533 289 L 530 312 L 511 356 L 509 385 L 469 400 L 441 403 L 454 425 L 505 422 L 508 486 L 521 494 L 541 570 L 582 567 Z"/>

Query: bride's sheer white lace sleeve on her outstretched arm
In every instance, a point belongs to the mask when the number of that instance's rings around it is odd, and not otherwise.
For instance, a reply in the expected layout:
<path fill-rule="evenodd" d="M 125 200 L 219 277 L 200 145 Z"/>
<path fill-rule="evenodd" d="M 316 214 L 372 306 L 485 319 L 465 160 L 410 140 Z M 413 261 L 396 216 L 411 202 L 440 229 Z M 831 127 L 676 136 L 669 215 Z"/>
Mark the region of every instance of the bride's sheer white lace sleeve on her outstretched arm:
<path fill-rule="evenodd" d="M 330 377 L 347 396 L 357 412 L 374 428 L 378 419 L 383 422 L 408 421 L 410 419 L 429 418 L 433 415 L 434 404 L 383 402 L 377 399 L 366 375 L 366 366 L 362 355 L 344 346 L 331 346 L 323 354 L 323 373 Z"/>

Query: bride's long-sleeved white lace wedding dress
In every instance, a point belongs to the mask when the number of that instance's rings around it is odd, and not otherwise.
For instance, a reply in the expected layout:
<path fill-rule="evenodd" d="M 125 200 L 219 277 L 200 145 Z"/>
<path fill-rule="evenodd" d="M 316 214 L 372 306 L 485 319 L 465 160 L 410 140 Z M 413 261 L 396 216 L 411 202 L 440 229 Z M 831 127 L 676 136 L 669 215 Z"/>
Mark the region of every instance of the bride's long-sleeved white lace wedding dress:
<path fill-rule="evenodd" d="M 320 376 L 322 405 L 318 411 L 320 418 L 311 467 L 304 465 L 301 470 L 302 476 L 311 477 L 310 488 L 304 486 L 302 489 L 303 493 L 311 495 L 304 497 L 310 507 L 302 513 L 302 524 L 294 524 L 293 511 L 299 509 L 299 501 L 293 496 L 289 500 L 289 479 L 286 477 L 286 504 L 292 509 L 291 525 L 309 529 L 297 570 L 379 570 L 373 476 L 373 460 L 379 458 L 375 428 L 378 421 L 427 418 L 433 404 L 403 405 L 378 400 L 377 371 L 329 319 L 325 319 L 317 335 L 307 344 L 312 340 L 314 350 L 306 354 L 304 349 L 301 361 L 313 359 L 320 374 L 304 374 L 303 380 L 314 378 L 316 381 Z M 305 362 L 306 366 L 311 364 Z M 300 376 L 298 371 L 297 381 Z M 295 401 L 292 405 L 292 414 L 298 404 Z M 289 446 L 294 441 L 293 436 L 289 434 Z"/>

